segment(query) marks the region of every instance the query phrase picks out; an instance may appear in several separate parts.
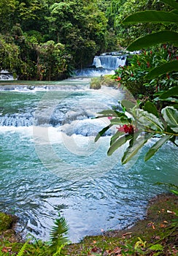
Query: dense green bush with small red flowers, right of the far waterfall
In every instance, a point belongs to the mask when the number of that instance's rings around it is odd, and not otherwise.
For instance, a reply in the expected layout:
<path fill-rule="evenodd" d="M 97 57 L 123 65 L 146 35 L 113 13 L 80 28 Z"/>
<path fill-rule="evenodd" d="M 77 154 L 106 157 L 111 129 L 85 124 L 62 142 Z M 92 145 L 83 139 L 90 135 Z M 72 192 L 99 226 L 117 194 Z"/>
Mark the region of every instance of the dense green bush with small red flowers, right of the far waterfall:
<path fill-rule="evenodd" d="M 164 72 L 155 78 L 147 78 L 146 75 L 167 61 L 177 61 L 176 48 L 169 48 L 168 45 L 143 50 L 142 53 L 134 55 L 130 65 L 119 67 L 115 70 L 115 80 L 125 86 L 137 99 L 154 99 L 158 91 L 168 90 L 177 84 L 177 72 Z M 174 64 L 174 68 L 175 68 Z"/>

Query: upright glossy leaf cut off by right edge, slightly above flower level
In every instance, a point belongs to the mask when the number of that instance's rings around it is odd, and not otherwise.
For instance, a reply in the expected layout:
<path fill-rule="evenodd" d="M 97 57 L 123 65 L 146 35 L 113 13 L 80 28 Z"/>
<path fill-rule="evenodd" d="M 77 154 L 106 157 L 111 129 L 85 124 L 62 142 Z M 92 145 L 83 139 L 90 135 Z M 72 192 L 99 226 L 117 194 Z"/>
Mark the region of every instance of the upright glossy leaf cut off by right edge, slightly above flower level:
<path fill-rule="evenodd" d="M 169 127 L 178 133 L 178 110 L 174 107 L 166 107 L 161 110 L 161 113 Z"/>

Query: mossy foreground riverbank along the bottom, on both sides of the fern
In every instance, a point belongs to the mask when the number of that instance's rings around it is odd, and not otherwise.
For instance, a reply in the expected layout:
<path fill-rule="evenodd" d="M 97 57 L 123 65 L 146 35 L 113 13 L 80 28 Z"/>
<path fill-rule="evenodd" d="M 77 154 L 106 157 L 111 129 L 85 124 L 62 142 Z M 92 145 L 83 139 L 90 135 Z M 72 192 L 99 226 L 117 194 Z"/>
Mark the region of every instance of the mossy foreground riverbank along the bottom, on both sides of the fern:
<path fill-rule="evenodd" d="M 80 243 L 64 247 L 63 255 L 177 255 L 178 197 L 172 194 L 158 195 L 148 203 L 147 217 L 125 230 L 109 230 L 100 236 L 87 236 Z M 1 219 L 0 219 L 1 222 Z M 8 230 L 12 230 L 16 241 L 11 240 Z M 7 236 L 8 234 L 8 236 Z M 0 255 L 13 255 L 19 252 L 23 243 L 15 234 L 14 225 L 0 231 Z M 52 255 L 47 243 L 34 241 L 27 244 L 23 255 Z"/>

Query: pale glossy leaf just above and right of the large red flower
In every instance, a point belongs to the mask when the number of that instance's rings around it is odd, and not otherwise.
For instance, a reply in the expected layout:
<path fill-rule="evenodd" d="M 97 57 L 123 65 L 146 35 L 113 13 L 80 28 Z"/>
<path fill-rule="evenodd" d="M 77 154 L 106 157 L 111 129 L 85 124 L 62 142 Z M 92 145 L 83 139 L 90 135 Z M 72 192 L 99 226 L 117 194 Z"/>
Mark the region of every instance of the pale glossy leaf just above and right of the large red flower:
<path fill-rule="evenodd" d="M 162 121 L 152 113 L 148 113 L 142 109 L 136 110 L 137 121 L 142 124 L 144 127 L 149 127 L 153 130 L 163 130 L 164 126 Z"/>

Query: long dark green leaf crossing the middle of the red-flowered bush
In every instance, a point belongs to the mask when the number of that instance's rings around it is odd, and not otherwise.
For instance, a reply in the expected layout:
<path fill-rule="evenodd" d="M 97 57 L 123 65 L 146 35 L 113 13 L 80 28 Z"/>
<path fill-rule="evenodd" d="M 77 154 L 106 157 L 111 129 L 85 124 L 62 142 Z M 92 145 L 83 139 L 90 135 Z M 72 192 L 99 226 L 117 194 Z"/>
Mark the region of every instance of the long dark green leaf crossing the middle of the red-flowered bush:
<path fill-rule="evenodd" d="M 159 67 L 152 69 L 144 78 L 157 78 L 159 75 L 163 75 L 169 72 L 178 71 L 178 61 L 170 61 L 166 64 L 162 64 Z"/>

